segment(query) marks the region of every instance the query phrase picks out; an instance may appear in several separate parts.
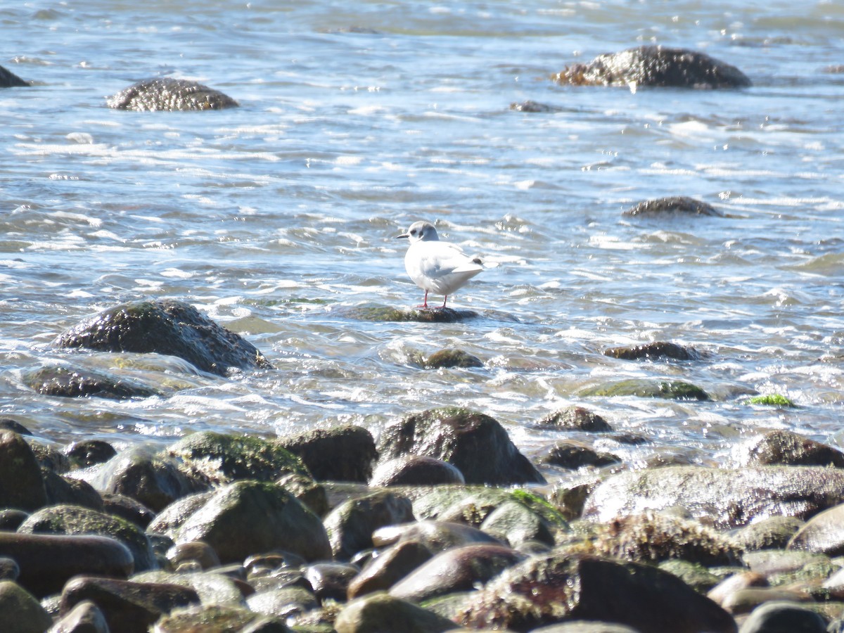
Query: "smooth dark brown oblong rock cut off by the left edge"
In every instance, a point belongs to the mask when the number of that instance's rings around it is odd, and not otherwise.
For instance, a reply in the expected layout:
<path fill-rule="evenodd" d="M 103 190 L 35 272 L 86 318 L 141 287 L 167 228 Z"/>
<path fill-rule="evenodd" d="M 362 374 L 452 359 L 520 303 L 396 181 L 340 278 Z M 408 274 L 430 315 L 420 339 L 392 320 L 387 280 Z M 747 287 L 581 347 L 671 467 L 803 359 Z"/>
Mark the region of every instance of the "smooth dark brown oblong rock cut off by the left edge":
<path fill-rule="evenodd" d="M 126 545 L 103 536 L 0 532 L 0 556 L 18 563 L 19 584 L 39 598 L 61 591 L 79 574 L 125 578 L 134 569 Z"/>

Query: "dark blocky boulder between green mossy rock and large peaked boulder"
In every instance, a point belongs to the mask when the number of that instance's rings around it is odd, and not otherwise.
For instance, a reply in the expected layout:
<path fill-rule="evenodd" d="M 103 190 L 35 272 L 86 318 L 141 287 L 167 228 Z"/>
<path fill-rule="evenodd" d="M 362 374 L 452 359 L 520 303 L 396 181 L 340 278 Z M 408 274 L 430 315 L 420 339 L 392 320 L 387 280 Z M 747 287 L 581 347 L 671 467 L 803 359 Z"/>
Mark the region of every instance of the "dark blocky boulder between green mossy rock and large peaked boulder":
<path fill-rule="evenodd" d="M 279 438 L 317 481 L 369 481 L 378 457 L 372 434 L 362 426 L 338 425 Z"/>

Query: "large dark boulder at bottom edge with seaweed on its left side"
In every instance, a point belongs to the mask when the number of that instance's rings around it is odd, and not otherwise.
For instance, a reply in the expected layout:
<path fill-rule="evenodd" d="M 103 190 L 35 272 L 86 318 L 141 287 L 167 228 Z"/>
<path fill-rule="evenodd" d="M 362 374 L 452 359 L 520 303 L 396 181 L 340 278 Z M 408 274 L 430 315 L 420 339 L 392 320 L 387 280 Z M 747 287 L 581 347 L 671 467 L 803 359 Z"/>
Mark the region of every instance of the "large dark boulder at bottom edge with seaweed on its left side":
<path fill-rule="evenodd" d="M 650 565 L 589 555 L 535 556 L 469 598 L 458 617 L 471 628 L 534 630 L 587 619 L 641 633 L 733 633 L 733 618 L 677 576 Z"/>

